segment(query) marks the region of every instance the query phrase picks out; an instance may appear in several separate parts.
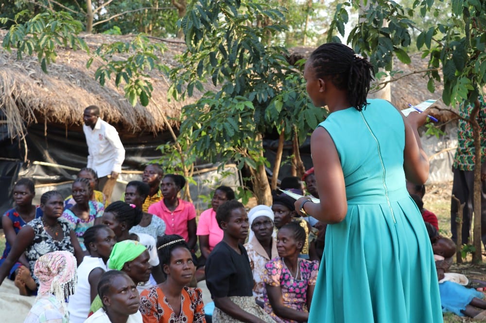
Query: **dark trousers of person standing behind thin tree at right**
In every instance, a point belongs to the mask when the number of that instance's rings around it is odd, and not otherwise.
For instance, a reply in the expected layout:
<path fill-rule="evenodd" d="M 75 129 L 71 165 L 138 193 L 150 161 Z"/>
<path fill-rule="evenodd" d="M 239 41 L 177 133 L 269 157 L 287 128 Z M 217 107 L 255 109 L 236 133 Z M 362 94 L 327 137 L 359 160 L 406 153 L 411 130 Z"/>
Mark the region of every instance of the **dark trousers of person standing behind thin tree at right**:
<path fill-rule="evenodd" d="M 469 240 L 474 210 L 474 171 L 453 169 L 452 172 L 454 175 L 452 194 L 459 199 L 461 204 L 466 203 L 462 216 L 462 244 L 466 244 Z M 457 242 L 457 224 L 455 221 L 457 210 L 457 202 L 451 198 L 451 232 L 454 242 Z M 486 181 L 481 182 L 481 240 L 486 245 Z"/>

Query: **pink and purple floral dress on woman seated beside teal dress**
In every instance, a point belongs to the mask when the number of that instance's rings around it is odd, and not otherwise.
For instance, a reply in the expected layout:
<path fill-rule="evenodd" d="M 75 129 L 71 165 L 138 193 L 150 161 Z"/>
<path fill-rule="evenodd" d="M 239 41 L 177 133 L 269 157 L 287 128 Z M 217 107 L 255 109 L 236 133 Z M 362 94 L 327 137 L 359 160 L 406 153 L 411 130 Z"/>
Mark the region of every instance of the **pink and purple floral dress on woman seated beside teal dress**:
<path fill-rule="evenodd" d="M 282 290 L 283 304 L 286 307 L 293 308 L 298 311 L 308 312 L 307 308 L 307 288 L 315 285 L 317 278 L 317 271 L 319 270 L 319 262 L 309 261 L 298 258 L 300 261 L 300 278 L 295 279 L 282 258 L 274 258 L 265 265 L 265 275 L 263 281 L 266 285 L 280 287 Z M 265 301 L 264 309 L 272 316 L 276 322 L 280 323 L 295 323 L 293 320 L 285 320 L 279 318 L 273 312 L 266 290 L 263 292 L 263 299 Z"/>

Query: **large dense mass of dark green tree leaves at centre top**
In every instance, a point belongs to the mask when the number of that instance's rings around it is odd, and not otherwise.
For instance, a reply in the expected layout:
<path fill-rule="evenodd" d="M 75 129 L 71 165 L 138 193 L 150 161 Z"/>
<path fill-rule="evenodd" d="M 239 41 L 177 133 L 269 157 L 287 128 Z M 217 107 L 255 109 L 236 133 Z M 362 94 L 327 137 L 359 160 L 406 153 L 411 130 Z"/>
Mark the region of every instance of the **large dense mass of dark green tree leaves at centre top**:
<path fill-rule="evenodd" d="M 181 20 L 188 50 L 172 74 L 171 95 L 191 96 L 207 80 L 219 88 L 183 109 L 180 133 L 191 141 L 189 155 L 236 161 L 240 169 L 268 166 L 261 133 L 283 127 L 290 135 L 293 120 L 308 126 L 322 118 L 286 49 L 265 43 L 286 30 L 278 24 L 284 12 L 259 1 L 199 0 Z"/>

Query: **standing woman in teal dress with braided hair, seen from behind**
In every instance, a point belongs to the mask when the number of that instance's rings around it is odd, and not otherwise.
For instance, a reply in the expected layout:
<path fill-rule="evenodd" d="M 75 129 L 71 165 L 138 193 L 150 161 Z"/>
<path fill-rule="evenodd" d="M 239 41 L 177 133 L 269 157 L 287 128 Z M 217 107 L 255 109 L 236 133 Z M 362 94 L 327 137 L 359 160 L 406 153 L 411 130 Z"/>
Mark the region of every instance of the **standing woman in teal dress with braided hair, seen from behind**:
<path fill-rule="evenodd" d="M 305 66 L 309 96 L 330 112 L 311 137 L 320 203 L 295 202 L 328 224 L 309 322 L 442 322 L 432 247 L 405 184 L 428 178 L 417 133 L 426 113 L 367 100 L 372 73 L 338 43 Z"/>

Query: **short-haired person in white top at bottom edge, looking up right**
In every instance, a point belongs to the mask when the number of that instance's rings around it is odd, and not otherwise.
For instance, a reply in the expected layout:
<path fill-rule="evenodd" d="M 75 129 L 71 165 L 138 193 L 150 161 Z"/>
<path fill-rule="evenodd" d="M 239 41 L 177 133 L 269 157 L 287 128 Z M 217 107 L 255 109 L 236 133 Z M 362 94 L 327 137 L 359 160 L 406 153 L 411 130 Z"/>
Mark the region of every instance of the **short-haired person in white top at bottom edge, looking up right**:
<path fill-rule="evenodd" d="M 103 307 L 85 323 L 142 323 L 137 284 L 126 273 L 110 270 L 101 276 L 98 294 Z"/>

